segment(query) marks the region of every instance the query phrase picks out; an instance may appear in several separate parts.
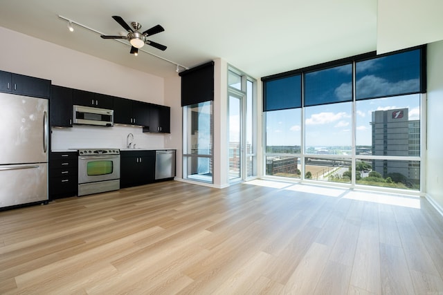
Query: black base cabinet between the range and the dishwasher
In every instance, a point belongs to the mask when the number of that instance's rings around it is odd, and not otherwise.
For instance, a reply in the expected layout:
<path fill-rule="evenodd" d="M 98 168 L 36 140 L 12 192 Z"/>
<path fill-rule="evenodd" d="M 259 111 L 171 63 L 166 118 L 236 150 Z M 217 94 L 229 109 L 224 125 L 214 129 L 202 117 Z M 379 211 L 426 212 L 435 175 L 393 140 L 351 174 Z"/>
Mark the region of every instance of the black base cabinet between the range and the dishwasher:
<path fill-rule="evenodd" d="M 154 182 L 155 151 L 120 151 L 120 188 Z"/>

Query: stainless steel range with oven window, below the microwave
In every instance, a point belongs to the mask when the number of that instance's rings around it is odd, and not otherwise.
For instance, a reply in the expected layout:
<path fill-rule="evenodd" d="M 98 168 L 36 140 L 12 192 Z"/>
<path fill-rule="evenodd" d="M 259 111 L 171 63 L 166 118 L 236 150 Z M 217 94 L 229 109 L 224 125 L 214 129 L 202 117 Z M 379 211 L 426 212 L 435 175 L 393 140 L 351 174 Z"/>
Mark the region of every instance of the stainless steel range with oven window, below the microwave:
<path fill-rule="evenodd" d="M 120 189 L 120 150 L 78 149 L 78 196 Z"/>

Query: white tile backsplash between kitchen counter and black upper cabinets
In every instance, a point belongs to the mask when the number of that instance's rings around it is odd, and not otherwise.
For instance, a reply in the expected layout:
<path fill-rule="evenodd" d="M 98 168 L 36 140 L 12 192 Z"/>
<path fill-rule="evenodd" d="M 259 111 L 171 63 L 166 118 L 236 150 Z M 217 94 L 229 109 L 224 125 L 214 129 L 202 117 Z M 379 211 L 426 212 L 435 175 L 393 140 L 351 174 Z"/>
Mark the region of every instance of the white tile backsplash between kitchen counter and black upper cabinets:
<path fill-rule="evenodd" d="M 143 133 L 141 127 L 132 126 L 84 126 L 52 128 L 51 149 L 53 151 L 84 148 L 126 149 L 127 135 L 134 135 L 136 148 L 163 149 L 164 137 L 168 134 Z"/>

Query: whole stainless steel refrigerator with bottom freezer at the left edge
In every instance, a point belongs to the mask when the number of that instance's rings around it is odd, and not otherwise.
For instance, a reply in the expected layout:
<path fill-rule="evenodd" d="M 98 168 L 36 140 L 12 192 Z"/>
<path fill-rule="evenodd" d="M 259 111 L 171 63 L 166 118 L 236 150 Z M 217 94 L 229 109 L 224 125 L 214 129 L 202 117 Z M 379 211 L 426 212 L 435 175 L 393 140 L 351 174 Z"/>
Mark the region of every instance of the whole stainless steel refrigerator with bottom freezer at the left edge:
<path fill-rule="evenodd" d="M 48 202 L 48 99 L 0 93 L 0 208 Z"/>

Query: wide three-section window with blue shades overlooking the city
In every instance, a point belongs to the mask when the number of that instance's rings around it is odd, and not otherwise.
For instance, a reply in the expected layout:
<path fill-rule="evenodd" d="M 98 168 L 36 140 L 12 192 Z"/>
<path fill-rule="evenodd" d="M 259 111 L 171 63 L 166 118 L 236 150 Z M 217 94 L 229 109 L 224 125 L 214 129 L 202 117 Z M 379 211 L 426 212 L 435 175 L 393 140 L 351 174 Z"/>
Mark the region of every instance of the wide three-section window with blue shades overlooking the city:
<path fill-rule="evenodd" d="M 426 48 L 263 78 L 266 175 L 420 190 Z"/>

